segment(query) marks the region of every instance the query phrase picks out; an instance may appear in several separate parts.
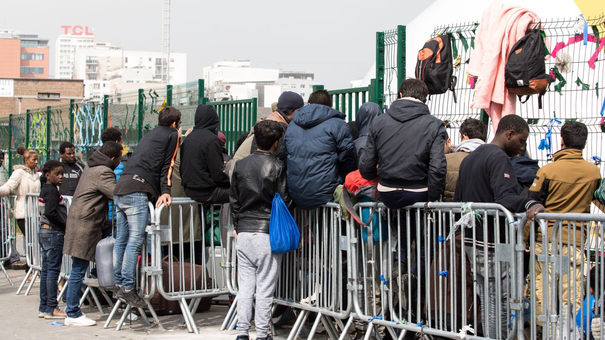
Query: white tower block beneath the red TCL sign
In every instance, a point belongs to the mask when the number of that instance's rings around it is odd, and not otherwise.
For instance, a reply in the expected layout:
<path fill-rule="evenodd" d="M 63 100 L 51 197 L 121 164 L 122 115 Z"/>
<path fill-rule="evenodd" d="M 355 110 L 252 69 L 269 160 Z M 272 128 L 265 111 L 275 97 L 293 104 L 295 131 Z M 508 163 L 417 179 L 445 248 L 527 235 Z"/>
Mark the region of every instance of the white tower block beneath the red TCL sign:
<path fill-rule="evenodd" d="M 54 50 L 54 77 L 57 79 L 77 78 L 74 77 L 76 50 L 93 47 L 94 34 L 60 35 L 59 38 L 57 38 Z M 80 77 L 80 79 L 83 78 Z"/>

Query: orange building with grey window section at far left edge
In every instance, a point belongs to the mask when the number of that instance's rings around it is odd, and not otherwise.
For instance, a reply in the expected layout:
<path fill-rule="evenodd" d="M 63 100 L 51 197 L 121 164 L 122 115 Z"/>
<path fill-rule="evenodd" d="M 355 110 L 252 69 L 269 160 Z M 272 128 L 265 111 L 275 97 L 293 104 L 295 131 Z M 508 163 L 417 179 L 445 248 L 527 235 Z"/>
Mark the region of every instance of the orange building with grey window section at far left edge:
<path fill-rule="evenodd" d="M 48 78 L 48 39 L 0 30 L 0 77 Z"/>

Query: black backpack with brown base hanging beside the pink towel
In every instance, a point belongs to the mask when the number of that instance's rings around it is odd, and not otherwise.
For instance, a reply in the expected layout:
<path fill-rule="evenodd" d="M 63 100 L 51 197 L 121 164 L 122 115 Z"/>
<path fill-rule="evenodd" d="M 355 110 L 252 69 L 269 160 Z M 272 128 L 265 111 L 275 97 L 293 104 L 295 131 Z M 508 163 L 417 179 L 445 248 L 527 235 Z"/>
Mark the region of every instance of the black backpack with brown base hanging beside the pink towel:
<path fill-rule="evenodd" d="M 542 108 L 542 96 L 551 82 L 551 76 L 546 74 L 544 60 L 546 46 L 540 30 L 532 30 L 512 46 L 506 60 L 504 77 L 508 93 L 516 94 L 521 100 L 532 94 L 539 94 L 538 108 Z"/>

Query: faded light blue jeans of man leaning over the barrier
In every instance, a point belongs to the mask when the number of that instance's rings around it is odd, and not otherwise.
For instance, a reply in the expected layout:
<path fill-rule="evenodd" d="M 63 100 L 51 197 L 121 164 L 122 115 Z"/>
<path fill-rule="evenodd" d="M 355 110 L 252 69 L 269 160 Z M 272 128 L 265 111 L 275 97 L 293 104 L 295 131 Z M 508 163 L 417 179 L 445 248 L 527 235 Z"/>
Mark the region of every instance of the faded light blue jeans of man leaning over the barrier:
<path fill-rule="evenodd" d="M 116 244 L 114 245 L 114 276 L 116 285 L 134 289 L 139 252 L 145 241 L 145 227 L 151 217 L 149 198 L 145 192 L 115 195 Z"/>

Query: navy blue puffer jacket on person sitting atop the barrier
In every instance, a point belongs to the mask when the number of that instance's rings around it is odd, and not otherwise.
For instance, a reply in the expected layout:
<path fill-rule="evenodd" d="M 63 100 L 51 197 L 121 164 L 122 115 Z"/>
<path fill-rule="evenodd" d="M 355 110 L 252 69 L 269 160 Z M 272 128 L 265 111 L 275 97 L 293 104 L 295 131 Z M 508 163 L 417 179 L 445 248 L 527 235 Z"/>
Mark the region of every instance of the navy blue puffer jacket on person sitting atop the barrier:
<path fill-rule="evenodd" d="M 334 189 L 356 169 L 355 144 L 344 114 L 310 104 L 286 129 L 288 190 L 296 206 L 313 209 L 333 200 Z"/>

